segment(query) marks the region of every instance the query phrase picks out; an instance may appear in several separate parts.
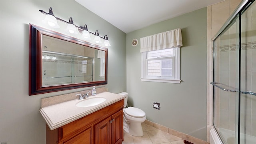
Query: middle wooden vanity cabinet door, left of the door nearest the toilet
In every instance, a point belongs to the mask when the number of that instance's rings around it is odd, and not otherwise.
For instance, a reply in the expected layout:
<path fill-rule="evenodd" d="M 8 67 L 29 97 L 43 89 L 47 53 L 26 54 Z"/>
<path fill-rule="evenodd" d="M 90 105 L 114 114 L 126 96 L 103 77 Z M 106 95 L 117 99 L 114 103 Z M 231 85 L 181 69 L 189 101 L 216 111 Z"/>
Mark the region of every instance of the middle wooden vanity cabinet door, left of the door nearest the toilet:
<path fill-rule="evenodd" d="M 110 120 L 111 117 L 106 118 L 102 122 L 95 125 L 95 144 L 110 144 Z"/>

